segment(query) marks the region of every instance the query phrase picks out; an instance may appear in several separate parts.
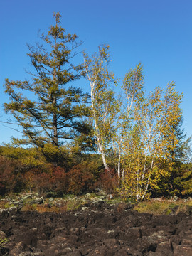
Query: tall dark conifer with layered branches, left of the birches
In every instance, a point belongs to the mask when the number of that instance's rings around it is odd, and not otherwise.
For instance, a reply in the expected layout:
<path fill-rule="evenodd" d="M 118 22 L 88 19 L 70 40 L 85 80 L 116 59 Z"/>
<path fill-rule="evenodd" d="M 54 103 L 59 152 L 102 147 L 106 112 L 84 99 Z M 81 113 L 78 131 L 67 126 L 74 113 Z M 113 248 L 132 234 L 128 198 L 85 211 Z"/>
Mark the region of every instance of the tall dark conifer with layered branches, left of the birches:
<path fill-rule="evenodd" d="M 5 92 L 11 102 L 4 104 L 4 110 L 23 129 L 23 139 L 14 139 L 14 144 L 40 148 L 53 144 L 58 148 L 65 139 L 88 132 L 85 117 L 89 96 L 70 83 L 81 77 L 82 65 L 71 63 L 81 42 L 75 34 L 65 33 L 60 17 L 60 13 L 53 14 L 55 26 L 41 35 L 43 44 L 28 45 L 35 68 L 35 73 L 30 73 L 31 81 L 6 79 Z M 26 96 L 31 93 L 26 92 L 32 92 L 32 100 Z"/>

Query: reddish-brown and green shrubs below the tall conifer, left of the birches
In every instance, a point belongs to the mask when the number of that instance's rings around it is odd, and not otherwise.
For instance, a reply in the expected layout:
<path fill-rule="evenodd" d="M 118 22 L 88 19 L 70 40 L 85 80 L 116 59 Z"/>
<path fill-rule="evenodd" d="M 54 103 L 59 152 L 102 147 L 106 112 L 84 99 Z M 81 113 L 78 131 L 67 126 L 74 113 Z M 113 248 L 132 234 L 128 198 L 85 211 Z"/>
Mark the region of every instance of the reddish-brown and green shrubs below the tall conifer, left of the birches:
<path fill-rule="evenodd" d="M 50 149 L 52 145 L 47 145 Z M 79 156 L 63 148 L 58 166 L 47 161 L 36 148 L 0 149 L 0 195 L 35 191 L 45 196 L 63 196 L 66 193 L 82 194 L 97 188 L 113 193 L 118 179 L 114 171 L 106 172 L 97 154 Z M 55 154 L 51 152 L 50 154 Z M 50 157 L 50 155 L 49 155 Z"/>

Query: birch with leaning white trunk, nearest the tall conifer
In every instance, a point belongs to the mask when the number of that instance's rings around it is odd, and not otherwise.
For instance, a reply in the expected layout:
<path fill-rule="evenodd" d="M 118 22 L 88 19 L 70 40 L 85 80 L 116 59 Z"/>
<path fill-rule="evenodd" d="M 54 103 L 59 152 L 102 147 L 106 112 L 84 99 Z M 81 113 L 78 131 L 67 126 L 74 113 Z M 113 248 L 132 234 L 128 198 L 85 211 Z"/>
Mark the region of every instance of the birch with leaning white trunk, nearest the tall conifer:
<path fill-rule="evenodd" d="M 114 136 L 115 117 L 118 112 L 117 100 L 110 86 L 115 83 L 114 74 L 109 71 L 109 46 L 99 47 L 92 58 L 84 53 L 84 69 L 90 84 L 92 119 L 97 140 L 97 149 L 107 171 L 107 149 Z"/>

